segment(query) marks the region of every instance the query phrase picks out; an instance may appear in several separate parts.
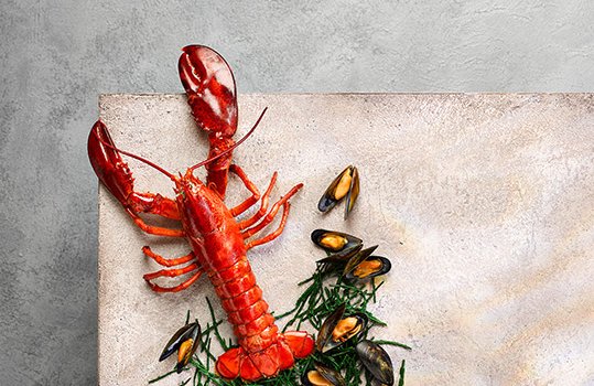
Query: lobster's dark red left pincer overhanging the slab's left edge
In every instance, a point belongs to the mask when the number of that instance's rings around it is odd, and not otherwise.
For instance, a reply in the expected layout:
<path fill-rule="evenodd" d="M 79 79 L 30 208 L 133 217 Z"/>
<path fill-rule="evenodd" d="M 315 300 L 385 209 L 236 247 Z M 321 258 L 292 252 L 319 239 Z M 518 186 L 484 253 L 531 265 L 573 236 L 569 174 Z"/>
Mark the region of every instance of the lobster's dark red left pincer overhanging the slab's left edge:
<path fill-rule="evenodd" d="M 106 143 L 114 147 L 107 127 L 101 120 L 98 120 L 88 136 L 87 150 L 90 164 L 104 186 L 125 207 L 128 207 L 128 197 L 133 192 L 134 179 L 118 151 Z"/>

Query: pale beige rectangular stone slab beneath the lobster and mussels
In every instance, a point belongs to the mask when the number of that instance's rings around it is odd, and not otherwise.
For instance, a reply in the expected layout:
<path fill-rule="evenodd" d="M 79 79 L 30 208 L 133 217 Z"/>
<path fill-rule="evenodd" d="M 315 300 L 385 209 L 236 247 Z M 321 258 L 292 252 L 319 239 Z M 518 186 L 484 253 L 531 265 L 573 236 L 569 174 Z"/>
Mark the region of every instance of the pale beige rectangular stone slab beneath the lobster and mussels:
<path fill-rule="evenodd" d="M 592 94 L 241 95 L 238 138 L 266 106 L 235 161 L 261 190 L 279 171 L 276 197 L 305 184 L 284 234 L 249 253 L 272 310 L 294 303 L 320 258 L 311 230 L 347 230 L 392 260 L 376 335 L 413 347 L 389 349 L 407 360 L 407 385 L 594 385 Z M 104 95 L 100 117 L 120 148 L 170 171 L 207 152 L 182 95 Z M 349 163 L 361 174 L 352 217 L 321 215 L 320 195 Z M 166 178 L 129 164 L 138 190 L 172 195 Z M 237 181 L 228 191 L 229 205 L 247 196 Z M 101 385 L 145 385 L 171 368 L 156 357 L 186 310 L 209 320 L 207 280 L 147 287 L 159 267 L 143 245 L 187 250 L 142 234 L 101 189 Z"/>

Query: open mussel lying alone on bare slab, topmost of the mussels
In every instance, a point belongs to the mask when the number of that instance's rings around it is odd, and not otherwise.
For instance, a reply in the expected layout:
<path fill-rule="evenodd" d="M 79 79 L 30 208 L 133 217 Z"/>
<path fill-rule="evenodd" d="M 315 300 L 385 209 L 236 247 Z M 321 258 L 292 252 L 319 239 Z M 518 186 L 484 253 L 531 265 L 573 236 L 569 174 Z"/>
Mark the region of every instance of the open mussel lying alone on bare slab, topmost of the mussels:
<path fill-rule="evenodd" d="M 320 199 L 317 208 L 325 213 L 332 210 L 338 202 L 346 197 L 345 219 L 353 210 L 357 197 L 359 196 L 359 172 L 357 168 L 348 165 L 330 184 L 328 189 Z"/>

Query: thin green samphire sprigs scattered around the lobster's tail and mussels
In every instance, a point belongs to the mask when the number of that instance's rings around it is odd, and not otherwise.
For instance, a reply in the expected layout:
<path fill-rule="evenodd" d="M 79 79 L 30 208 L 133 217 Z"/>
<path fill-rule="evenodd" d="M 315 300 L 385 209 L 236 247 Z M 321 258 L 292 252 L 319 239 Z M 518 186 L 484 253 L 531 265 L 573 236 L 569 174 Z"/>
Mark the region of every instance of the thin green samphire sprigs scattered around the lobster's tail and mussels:
<path fill-rule="evenodd" d="M 276 315 L 276 318 L 278 321 L 288 319 L 283 331 L 289 328 L 300 330 L 302 325 L 311 325 L 317 331 L 328 314 L 342 304 L 345 304 L 345 314 L 363 313 L 368 319 L 368 325 L 358 335 L 357 341 L 374 341 L 369 336 L 370 330 L 375 326 L 386 325 L 386 323 L 376 318 L 369 310 L 369 305 L 376 302 L 377 292 L 384 283 L 382 281 L 376 283 L 376 280 L 379 279 L 374 278 L 364 283 L 343 280 L 341 271 L 334 266 L 318 264 L 313 275 L 299 283 L 303 288 L 303 292 L 296 300 L 295 305 L 290 311 Z M 350 341 L 324 354 L 315 352 L 306 358 L 298 360 L 292 368 L 279 373 L 273 378 L 260 379 L 258 383 L 245 383 L 240 379 L 230 382 L 223 379 L 217 374 L 210 372 L 210 367 L 216 361 L 216 357 L 210 353 L 212 342 L 216 340 L 223 350 L 226 351 L 233 345 L 233 341 L 231 339 L 225 340 L 220 335 L 218 326 L 223 320 L 215 318 L 209 299 L 207 298 L 206 301 L 210 313 L 210 322 L 203 330 L 199 351 L 196 352 L 188 365 L 184 368 L 184 373 L 190 373 L 190 376 L 180 385 L 298 386 L 302 384 L 300 380 L 302 374 L 312 368 L 314 363 L 322 363 L 332 369 L 341 372 L 345 384 L 348 386 L 359 386 L 361 382 L 363 385 L 372 385 L 374 377 L 360 363 L 355 350 L 356 342 Z M 186 322 L 188 320 L 190 311 L 186 315 Z M 404 350 L 411 350 L 410 346 L 395 341 L 375 340 L 374 342 L 380 345 L 393 345 Z M 149 384 L 156 383 L 174 373 L 175 369 L 150 380 Z M 404 385 L 404 361 L 400 365 L 398 385 Z"/>

